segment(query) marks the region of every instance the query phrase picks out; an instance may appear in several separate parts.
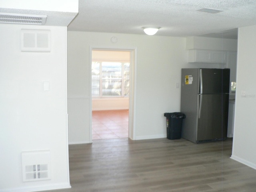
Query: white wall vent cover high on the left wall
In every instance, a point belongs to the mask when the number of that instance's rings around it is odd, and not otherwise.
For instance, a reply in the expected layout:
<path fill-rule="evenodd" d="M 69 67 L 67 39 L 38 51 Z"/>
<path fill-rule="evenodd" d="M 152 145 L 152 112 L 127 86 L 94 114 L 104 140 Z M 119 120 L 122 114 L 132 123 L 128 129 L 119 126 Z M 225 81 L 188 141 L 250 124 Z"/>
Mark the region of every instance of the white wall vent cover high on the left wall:
<path fill-rule="evenodd" d="M 50 52 L 50 30 L 21 30 L 22 52 Z"/>

